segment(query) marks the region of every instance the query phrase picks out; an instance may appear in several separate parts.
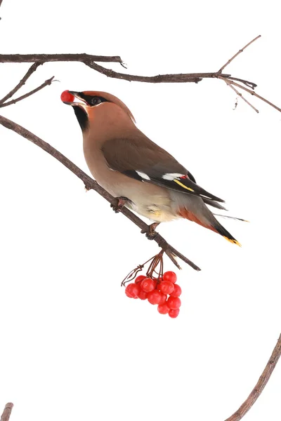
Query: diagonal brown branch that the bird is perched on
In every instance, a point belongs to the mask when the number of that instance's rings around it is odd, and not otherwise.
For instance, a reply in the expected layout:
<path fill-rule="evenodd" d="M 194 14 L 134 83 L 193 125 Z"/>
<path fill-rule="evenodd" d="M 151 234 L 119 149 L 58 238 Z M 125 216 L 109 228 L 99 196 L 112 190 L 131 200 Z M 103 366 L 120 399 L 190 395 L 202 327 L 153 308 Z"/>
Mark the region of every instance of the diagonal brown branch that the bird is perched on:
<path fill-rule="evenodd" d="M 55 159 L 58 159 L 58 161 L 63 163 L 64 166 L 66 166 L 70 171 L 72 171 L 72 173 L 77 175 L 77 177 L 80 178 L 80 180 L 84 182 L 84 185 L 87 190 L 90 190 L 90 189 L 95 190 L 96 192 L 98 192 L 98 194 L 100 194 L 100 196 L 103 196 L 105 200 L 109 201 L 112 205 L 116 206 L 117 199 L 115 199 L 115 197 L 111 196 L 111 194 L 109 194 L 105 189 L 103 189 L 103 187 L 98 185 L 98 183 L 95 180 L 93 180 L 91 177 L 89 177 L 89 175 L 84 173 L 84 171 L 78 168 L 72 161 L 67 159 L 66 156 L 58 152 L 57 149 L 49 145 L 47 142 L 44 142 L 44 140 L 38 138 L 37 135 L 34 135 L 30 131 L 28 131 L 26 128 L 20 126 L 14 121 L 6 119 L 6 117 L 4 116 L 0 116 L 0 123 L 2 124 L 2 126 L 13 130 L 15 133 L 18 133 L 18 135 L 21 135 L 23 138 L 26 138 L 27 140 L 30 140 L 35 145 L 41 147 L 41 149 L 44 149 L 44 151 L 48 152 L 48 154 L 53 156 Z M 126 207 L 123 207 L 120 210 L 120 212 L 123 213 L 126 216 L 126 218 L 131 220 L 135 225 L 137 225 L 137 227 L 141 228 L 143 232 L 148 232 L 149 230 L 148 225 L 145 224 L 143 220 L 138 218 L 133 212 L 131 212 L 131 210 L 129 210 Z M 170 246 L 169 243 L 167 243 L 166 240 L 160 234 L 157 233 L 155 235 L 154 241 L 156 241 L 159 247 L 161 247 L 164 250 L 164 252 L 172 260 L 172 262 L 174 262 L 174 260 L 171 258 L 171 253 L 178 256 L 178 258 L 181 258 L 185 263 L 190 265 L 190 267 L 192 267 L 193 269 L 197 271 L 200 270 L 200 268 L 197 267 L 197 265 L 191 262 L 191 260 L 189 260 L 188 258 L 185 258 L 184 255 L 182 255 L 181 253 L 178 252 L 178 250 L 176 250 L 176 248 Z M 178 267 L 178 265 L 176 266 Z"/>

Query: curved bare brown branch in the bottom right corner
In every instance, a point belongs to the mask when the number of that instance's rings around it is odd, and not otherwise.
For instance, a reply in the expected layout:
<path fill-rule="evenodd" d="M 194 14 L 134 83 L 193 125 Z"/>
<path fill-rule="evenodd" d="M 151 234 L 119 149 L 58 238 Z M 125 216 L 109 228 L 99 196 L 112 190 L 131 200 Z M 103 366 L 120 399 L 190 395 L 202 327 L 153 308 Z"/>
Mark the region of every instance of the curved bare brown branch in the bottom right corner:
<path fill-rule="evenodd" d="M 263 373 L 261 374 L 261 377 L 259 377 L 259 381 L 256 383 L 256 386 L 251 391 L 246 401 L 242 403 L 240 408 L 225 421 L 240 421 L 242 417 L 244 417 L 244 415 L 248 412 L 248 410 L 251 409 L 251 407 L 256 402 L 256 399 L 259 398 L 261 392 L 263 392 L 263 389 L 266 387 L 266 384 L 268 380 L 270 379 L 270 375 L 273 373 L 273 370 L 277 364 L 278 359 L 280 358 L 280 355 L 281 355 L 281 335 L 279 339 L 277 340 L 277 344 L 275 345 L 275 348 L 273 349 L 273 353 L 271 354 L 270 359 L 268 363 L 266 364 L 266 368 L 263 370 Z"/>

